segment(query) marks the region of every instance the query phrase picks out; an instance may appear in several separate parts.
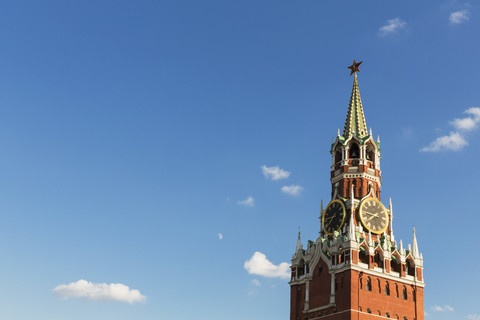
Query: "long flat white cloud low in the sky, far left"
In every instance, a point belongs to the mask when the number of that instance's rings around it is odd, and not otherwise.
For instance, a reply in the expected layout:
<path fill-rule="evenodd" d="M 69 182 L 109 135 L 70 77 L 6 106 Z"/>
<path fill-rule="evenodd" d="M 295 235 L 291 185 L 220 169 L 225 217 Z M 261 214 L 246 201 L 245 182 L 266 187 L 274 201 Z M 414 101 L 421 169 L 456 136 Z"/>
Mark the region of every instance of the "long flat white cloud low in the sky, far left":
<path fill-rule="evenodd" d="M 130 289 L 122 283 L 92 283 L 78 280 L 69 284 L 61 284 L 53 289 L 53 293 L 62 298 L 84 298 L 89 301 L 122 301 L 145 302 L 146 297 L 140 291 Z"/>

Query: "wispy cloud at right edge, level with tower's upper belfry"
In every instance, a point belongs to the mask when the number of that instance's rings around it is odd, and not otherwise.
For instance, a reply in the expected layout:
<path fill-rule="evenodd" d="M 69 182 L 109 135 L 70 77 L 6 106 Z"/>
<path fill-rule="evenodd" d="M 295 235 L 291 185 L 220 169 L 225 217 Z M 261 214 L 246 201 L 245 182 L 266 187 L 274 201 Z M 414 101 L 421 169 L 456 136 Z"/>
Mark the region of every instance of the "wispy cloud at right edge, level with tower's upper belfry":
<path fill-rule="evenodd" d="M 469 116 L 464 118 L 455 118 L 450 124 L 457 130 L 452 131 L 448 135 L 438 137 L 428 146 L 423 147 L 420 151 L 438 152 L 438 151 L 458 151 L 468 145 L 465 133 L 472 131 L 478 127 L 480 123 L 480 108 L 469 108 L 464 111 Z"/>

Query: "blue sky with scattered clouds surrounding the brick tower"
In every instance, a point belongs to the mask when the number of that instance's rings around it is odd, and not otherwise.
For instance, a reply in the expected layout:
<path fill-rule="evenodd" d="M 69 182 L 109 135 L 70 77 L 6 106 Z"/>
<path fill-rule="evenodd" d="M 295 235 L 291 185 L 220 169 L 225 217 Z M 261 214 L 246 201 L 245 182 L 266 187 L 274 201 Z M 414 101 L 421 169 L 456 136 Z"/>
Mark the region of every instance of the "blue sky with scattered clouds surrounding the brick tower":
<path fill-rule="evenodd" d="M 480 319 L 479 14 L 1 4 L 0 318 L 288 319 L 285 263 L 298 227 L 318 236 L 356 58 L 383 203 L 425 259 L 427 317 Z"/>

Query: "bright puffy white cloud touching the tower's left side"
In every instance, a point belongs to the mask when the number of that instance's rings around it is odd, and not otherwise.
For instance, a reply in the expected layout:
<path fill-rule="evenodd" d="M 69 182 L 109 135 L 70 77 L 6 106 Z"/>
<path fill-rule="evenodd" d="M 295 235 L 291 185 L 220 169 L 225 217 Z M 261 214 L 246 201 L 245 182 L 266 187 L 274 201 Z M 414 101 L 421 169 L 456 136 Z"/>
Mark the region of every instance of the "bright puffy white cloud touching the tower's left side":
<path fill-rule="evenodd" d="M 268 278 L 290 278 L 290 264 L 282 262 L 279 265 L 271 263 L 267 256 L 256 251 L 253 256 L 243 264 L 250 274 L 256 274 Z"/>

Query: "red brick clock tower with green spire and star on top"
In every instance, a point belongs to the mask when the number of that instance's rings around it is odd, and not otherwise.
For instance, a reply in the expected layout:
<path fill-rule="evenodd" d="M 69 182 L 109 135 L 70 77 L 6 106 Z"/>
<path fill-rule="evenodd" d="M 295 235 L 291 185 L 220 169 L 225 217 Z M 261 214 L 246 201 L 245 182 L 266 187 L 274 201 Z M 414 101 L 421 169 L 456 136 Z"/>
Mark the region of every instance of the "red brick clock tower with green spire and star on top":
<path fill-rule="evenodd" d="M 368 130 L 354 75 L 343 132 L 330 149 L 331 201 L 320 236 L 292 257 L 290 320 L 423 320 L 423 256 L 415 229 L 407 248 L 393 233 L 393 208 L 380 199 L 380 140 Z"/>

